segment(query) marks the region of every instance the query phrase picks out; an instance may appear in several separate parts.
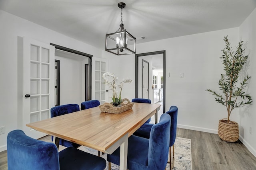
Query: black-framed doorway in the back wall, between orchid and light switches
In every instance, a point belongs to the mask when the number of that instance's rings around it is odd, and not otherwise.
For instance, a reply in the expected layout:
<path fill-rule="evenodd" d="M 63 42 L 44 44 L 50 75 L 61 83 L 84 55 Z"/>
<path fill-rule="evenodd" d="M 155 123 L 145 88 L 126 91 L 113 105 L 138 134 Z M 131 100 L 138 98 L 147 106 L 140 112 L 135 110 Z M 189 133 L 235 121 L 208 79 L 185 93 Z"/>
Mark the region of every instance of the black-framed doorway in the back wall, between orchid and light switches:
<path fill-rule="evenodd" d="M 145 58 L 146 57 L 146 58 Z M 152 71 L 149 71 L 149 81 L 152 82 L 152 88 L 149 88 L 149 98 L 152 100 L 151 102 L 154 103 L 154 96 L 157 98 L 157 102 L 162 103 L 162 109 L 163 113 L 165 113 L 165 83 L 166 83 L 166 64 L 165 64 L 165 50 L 164 51 L 154 51 L 154 52 L 149 52 L 149 53 L 141 53 L 141 54 L 136 54 L 135 55 L 135 98 L 143 98 L 141 96 L 141 91 L 142 89 L 142 83 L 140 83 L 141 80 L 141 70 L 142 70 L 142 59 L 147 59 L 149 62 L 149 70 L 152 69 Z M 157 75 L 156 73 L 153 73 L 153 70 L 156 68 L 154 67 L 154 64 L 158 63 L 160 61 L 160 64 L 162 65 L 162 73 L 159 73 Z M 154 78 L 155 79 L 154 79 Z M 154 82 L 156 84 L 154 84 Z M 156 91 L 156 92 L 155 92 Z M 156 95 L 154 95 L 156 93 Z"/>

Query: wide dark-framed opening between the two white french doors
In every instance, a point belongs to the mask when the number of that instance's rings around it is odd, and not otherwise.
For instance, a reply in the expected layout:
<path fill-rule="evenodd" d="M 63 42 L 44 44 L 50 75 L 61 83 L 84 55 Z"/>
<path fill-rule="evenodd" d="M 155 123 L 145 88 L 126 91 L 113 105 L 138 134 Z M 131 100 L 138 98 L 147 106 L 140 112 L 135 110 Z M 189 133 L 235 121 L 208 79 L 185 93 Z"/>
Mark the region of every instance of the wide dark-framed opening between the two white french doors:
<path fill-rule="evenodd" d="M 55 47 L 56 59 L 62 60 L 62 66 L 59 65 L 62 73 L 61 75 L 59 74 L 59 82 L 57 85 L 57 88 L 59 87 L 58 96 L 62 97 L 58 98 L 58 105 L 70 102 L 81 103 L 86 100 L 91 100 L 92 55 L 52 43 L 50 43 L 50 45 Z M 86 66 L 84 67 L 85 64 Z M 83 72 L 83 69 L 86 69 L 86 71 Z"/>

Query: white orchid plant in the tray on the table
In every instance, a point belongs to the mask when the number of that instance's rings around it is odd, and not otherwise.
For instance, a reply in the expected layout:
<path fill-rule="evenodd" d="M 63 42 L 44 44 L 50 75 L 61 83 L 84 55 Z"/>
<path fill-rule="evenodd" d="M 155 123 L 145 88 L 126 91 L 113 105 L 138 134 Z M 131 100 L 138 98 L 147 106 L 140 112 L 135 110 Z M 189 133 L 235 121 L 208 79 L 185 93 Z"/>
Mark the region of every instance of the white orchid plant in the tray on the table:
<path fill-rule="evenodd" d="M 107 77 L 110 77 L 111 80 L 108 80 Z M 112 74 L 110 72 L 105 72 L 102 75 L 102 78 L 104 80 L 104 83 L 107 84 L 108 87 L 110 87 L 110 90 L 113 91 L 113 96 L 111 97 L 112 100 L 113 100 L 113 105 L 114 106 L 120 105 L 120 103 L 122 102 L 121 93 L 122 93 L 122 88 L 124 86 L 124 83 L 130 83 L 130 82 L 132 82 L 132 80 L 130 78 L 126 78 L 126 79 L 123 79 L 120 82 L 120 84 L 118 84 L 118 77 L 116 77 L 114 74 Z M 117 95 L 118 94 L 118 89 L 120 89 L 119 96 Z"/>

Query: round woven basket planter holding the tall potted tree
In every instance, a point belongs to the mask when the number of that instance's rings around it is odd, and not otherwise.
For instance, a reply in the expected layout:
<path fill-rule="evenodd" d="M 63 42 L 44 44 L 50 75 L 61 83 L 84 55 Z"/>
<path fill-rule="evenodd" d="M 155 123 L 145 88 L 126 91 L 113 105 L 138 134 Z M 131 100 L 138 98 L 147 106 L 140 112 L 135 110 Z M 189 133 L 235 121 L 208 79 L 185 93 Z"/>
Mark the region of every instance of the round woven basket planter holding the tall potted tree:
<path fill-rule="evenodd" d="M 226 142 L 236 142 L 239 139 L 238 123 L 222 119 L 219 121 L 218 135 L 220 139 Z"/>

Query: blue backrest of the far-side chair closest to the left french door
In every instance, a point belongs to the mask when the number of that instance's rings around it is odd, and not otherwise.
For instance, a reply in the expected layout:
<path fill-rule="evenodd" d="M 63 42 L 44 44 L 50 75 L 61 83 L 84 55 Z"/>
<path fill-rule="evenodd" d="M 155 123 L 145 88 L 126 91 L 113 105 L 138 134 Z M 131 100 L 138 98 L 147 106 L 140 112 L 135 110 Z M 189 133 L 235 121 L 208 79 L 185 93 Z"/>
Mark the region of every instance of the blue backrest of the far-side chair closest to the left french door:
<path fill-rule="evenodd" d="M 61 106 L 55 106 L 51 108 L 51 117 L 65 115 L 79 110 L 80 109 L 78 104 L 65 104 Z"/>

